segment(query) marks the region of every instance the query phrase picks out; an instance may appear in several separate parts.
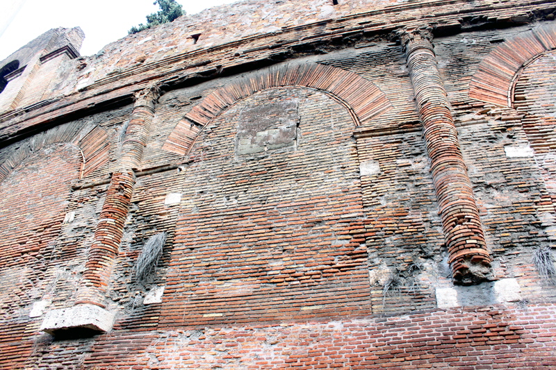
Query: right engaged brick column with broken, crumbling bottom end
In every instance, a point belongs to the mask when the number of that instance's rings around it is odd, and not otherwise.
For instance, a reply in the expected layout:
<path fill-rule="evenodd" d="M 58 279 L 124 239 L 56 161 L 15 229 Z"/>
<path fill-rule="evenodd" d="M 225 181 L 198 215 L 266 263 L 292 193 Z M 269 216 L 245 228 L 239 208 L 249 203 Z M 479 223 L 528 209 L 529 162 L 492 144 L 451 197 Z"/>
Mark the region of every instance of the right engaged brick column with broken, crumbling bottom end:
<path fill-rule="evenodd" d="M 432 35 L 419 30 L 400 33 L 400 38 L 423 122 L 452 276 L 461 284 L 489 280 L 491 258 L 486 251 L 479 210 L 436 65 Z"/>

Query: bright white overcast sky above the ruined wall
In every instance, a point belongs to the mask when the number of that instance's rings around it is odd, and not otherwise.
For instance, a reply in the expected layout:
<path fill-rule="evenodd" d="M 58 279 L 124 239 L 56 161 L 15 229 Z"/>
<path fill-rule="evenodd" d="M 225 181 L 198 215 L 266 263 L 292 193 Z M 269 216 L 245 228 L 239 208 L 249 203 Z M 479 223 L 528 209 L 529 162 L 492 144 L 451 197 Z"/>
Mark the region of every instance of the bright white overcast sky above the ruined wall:
<path fill-rule="evenodd" d="M 177 0 L 188 15 L 238 0 Z M 0 60 L 56 27 L 79 26 L 85 32 L 81 55 L 97 53 L 132 26 L 158 11 L 154 0 L 1 0 Z"/>

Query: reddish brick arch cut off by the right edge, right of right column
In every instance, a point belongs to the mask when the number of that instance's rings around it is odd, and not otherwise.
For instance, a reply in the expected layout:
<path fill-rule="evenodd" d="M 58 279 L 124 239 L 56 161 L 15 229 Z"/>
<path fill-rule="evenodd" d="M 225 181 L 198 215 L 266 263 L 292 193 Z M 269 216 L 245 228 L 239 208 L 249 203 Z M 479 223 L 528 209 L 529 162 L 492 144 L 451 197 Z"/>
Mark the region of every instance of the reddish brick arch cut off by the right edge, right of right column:
<path fill-rule="evenodd" d="M 556 49 L 556 26 L 552 24 L 533 28 L 503 42 L 480 62 L 469 83 L 469 97 L 512 107 L 518 72 L 553 49 Z"/>

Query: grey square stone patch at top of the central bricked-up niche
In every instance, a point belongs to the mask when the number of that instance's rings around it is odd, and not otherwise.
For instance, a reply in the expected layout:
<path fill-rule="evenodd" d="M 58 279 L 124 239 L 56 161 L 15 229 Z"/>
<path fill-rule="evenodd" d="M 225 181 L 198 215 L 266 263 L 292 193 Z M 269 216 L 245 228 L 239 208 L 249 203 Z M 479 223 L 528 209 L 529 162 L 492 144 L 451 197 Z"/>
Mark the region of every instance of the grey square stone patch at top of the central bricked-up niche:
<path fill-rule="evenodd" d="M 240 115 L 236 155 L 295 149 L 299 121 L 294 99 L 247 107 Z"/>

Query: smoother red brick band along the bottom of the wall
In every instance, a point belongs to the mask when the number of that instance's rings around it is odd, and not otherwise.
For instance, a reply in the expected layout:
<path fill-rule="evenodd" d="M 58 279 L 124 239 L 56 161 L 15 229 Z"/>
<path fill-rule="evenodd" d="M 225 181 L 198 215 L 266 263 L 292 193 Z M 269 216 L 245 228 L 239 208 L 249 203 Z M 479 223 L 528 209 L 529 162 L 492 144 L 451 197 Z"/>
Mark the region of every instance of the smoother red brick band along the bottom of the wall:
<path fill-rule="evenodd" d="M 542 319 L 539 319 L 542 317 Z M 97 339 L 44 337 L 37 369 L 550 369 L 554 305 L 482 308 L 381 319 L 129 331 Z M 110 354 L 108 354 L 110 353 Z"/>

